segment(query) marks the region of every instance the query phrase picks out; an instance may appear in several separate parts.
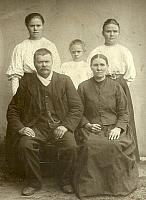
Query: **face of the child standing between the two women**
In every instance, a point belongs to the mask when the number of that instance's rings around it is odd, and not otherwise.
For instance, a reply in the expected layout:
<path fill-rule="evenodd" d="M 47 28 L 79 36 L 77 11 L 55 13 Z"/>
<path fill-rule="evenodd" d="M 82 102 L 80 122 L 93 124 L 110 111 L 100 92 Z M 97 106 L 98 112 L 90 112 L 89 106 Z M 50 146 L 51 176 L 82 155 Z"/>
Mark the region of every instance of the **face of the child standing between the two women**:
<path fill-rule="evenodd" d="M 70 53 L 74 61 L 80 61 L 84 55 L 84 50 L 80 44 L 74 44 L 70 48 Z"/>

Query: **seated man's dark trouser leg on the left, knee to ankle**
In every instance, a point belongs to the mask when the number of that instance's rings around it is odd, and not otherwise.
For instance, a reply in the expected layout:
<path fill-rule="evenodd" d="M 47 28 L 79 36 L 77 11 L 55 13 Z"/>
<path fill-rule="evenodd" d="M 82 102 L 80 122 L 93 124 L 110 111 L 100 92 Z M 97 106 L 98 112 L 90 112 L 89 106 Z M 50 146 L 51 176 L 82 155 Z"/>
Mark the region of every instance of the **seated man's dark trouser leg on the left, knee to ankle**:
<path fill-rule="evenodd" d="M 32 137 L 22 136 L 18 144 L 18 157 L 25 171 L 25 184 L 41 188 L 39 142 Z"/>

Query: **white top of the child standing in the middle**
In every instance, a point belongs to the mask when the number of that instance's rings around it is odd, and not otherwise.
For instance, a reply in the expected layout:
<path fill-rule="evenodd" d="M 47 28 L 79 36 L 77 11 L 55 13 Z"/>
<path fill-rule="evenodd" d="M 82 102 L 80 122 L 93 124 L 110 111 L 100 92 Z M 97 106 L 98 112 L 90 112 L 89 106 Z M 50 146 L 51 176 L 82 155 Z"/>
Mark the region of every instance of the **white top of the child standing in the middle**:
<path fill-rule="evenodd" d="M 92 76 L 92 72 L 87 62 L 85 61 L 70 61 L 61 65 L 61 73 L 68 75 L 76 88 L 78 85 L 89 79 Z"/>

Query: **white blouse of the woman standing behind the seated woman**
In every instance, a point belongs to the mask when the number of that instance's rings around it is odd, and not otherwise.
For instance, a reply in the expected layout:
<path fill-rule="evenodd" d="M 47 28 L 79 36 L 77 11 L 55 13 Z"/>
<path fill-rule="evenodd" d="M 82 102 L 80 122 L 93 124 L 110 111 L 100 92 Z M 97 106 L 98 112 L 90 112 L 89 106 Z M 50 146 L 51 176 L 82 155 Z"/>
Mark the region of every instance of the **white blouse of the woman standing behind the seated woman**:
<path fill-rule="evenodd" d="M 136 76 L 136 70 L 131 52 L 124 46 L 116 44 L 113 46 L 102 45 L 95 48 L 87 59 L 90 63 L 91 58 L 97 54 L 103 54 L 107 57 L 109 74 L 123 74 L 127 83 L 132 82 Z"/>

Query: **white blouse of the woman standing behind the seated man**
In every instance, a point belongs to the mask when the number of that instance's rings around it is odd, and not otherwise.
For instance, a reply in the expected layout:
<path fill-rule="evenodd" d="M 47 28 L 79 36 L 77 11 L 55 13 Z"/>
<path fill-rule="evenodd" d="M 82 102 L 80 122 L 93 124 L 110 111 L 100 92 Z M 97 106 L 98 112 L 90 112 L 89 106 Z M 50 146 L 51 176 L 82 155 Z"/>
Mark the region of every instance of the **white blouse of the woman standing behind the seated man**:
<path fill-rule="evenodd" d="M 33 57 L 35 51 L 40 48 L 46 48 L 51 51 L 53 56 L 53 70 L 59 72 L 61 61 L 55 44 L 44 37 L 40 40 L 26 39 L 14 48 L 11 64 L 6 72 L 9 79 L 13 77 L 21 78 L 24 73 L 35 72 Z"/>

